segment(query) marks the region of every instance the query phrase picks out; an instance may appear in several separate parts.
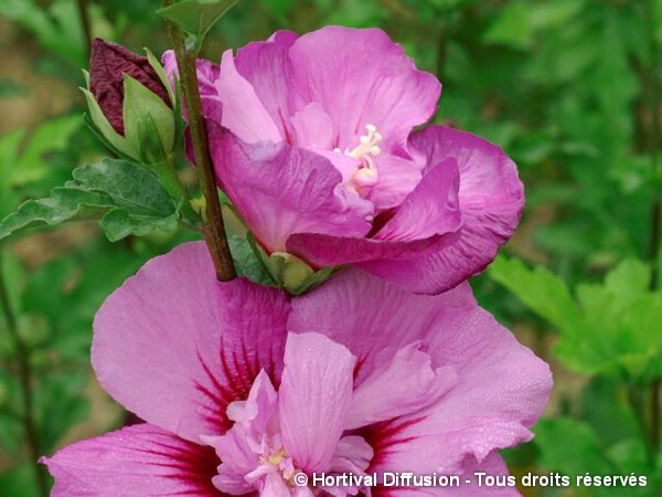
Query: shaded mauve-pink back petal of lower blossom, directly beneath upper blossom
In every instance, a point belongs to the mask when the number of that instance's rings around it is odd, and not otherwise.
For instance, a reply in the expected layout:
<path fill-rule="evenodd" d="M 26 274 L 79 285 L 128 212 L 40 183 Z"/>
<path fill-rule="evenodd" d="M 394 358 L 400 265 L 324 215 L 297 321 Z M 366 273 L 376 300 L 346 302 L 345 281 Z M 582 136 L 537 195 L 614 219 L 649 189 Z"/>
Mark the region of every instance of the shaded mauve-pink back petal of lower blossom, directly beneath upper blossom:
<path fill-rule="evenodd" d="M 316 330 L 348 347 L 359 359 L 356 388 L 383 368 L 382 350 L 425 340 L 455 325 L 458 308 L 476 307 L 468 286 L 438 296 L 414 295 L 360 269 L 346 269 L 293 299 L 287 328 L 293 332 Z M 329 315 L 333 319 L 328 319 Z M 441 366 L 434 355 L 431 359 L 433 368 Z"/>

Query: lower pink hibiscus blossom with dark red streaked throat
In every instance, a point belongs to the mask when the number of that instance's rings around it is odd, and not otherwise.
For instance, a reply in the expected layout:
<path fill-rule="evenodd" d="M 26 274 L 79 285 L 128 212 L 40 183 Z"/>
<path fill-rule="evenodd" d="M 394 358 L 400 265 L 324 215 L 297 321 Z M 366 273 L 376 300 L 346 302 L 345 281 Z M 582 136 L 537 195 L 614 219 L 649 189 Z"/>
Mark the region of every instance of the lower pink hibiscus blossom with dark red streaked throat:
<path fill-rule="evenodd" d="M 217 283 L 201 243 L 150 261 L 94 331 L 99 382 L 146 423 L 45 458 L 54 496 L 403 496 L 418 490 L 312 474 L 504 475 L 496 450 L 531 438 L 552 383 L 466 284 L 417 296 L 350 269 L 292 299 Z"/>

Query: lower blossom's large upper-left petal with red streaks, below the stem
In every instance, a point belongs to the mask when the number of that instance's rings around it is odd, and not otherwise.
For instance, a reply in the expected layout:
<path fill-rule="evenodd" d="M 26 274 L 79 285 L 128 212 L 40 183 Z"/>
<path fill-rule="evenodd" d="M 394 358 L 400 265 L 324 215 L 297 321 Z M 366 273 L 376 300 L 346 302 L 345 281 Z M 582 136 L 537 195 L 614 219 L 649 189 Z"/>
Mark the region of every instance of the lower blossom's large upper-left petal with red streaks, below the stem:
<path fill-rule="evenodd" d="M 180 245 L 104 303 L 92 362 L 119 403 L 196 442 L 229 427 L 227 405 L 246 399 L 261 369 L 277 382 L 288 313 L 276 289 L 217 283 L 204 243 Z"/>

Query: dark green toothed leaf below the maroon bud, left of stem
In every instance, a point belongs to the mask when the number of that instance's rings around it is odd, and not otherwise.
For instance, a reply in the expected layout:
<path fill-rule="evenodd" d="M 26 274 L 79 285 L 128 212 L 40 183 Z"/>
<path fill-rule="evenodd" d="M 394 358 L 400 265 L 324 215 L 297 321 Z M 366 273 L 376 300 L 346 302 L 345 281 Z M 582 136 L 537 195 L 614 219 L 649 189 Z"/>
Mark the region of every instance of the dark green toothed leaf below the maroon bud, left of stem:
<path fill-rule="evenodd" d="M 147 169 L 124 160 L 104 160 L 73 172 L 74 181 L 51 197 L 29 200 L 0 222 L 0 240 L 35 224 L 102 219 L 109 240 L 151 230 L 172 231 L 178 211 L 166 188 Z"/>

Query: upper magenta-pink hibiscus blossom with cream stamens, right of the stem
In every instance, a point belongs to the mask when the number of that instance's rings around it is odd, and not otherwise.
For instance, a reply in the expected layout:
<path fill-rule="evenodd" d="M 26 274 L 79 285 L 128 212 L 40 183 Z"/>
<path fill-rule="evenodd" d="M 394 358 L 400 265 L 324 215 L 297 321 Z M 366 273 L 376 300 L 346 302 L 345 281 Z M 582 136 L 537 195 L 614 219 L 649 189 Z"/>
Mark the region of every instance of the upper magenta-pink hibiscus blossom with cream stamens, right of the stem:
<path fill-rule="evenodd" d="M 465 131 L 412 133 L 441 85 L 381 30 L 278 31 L 201 61 L 199 77 L 218 184 L 267 254 L 437 294 L 513 233 L 515 165 Z"/>

